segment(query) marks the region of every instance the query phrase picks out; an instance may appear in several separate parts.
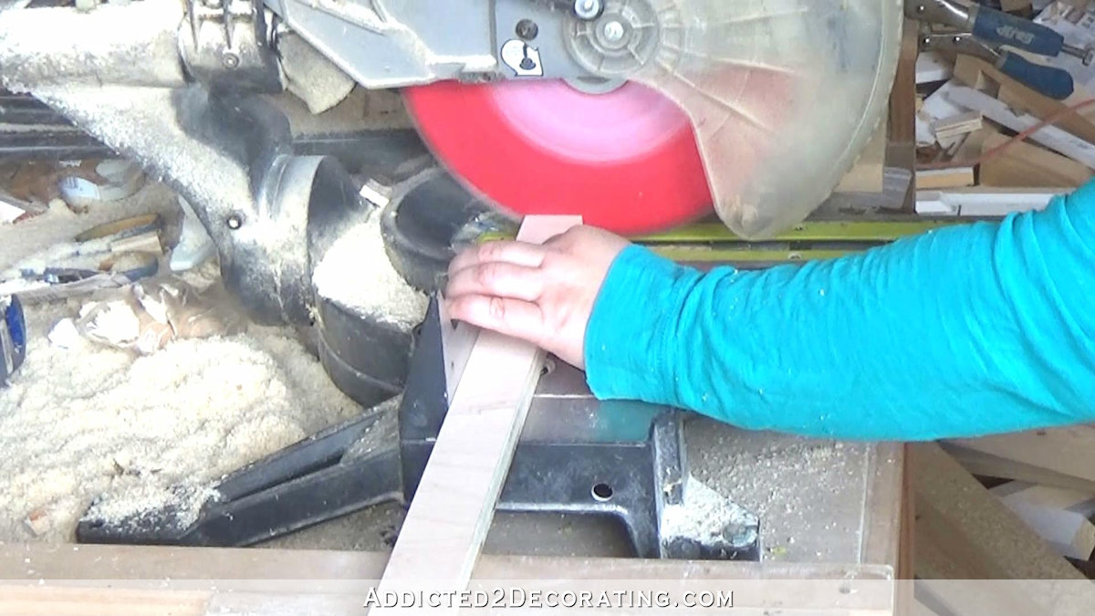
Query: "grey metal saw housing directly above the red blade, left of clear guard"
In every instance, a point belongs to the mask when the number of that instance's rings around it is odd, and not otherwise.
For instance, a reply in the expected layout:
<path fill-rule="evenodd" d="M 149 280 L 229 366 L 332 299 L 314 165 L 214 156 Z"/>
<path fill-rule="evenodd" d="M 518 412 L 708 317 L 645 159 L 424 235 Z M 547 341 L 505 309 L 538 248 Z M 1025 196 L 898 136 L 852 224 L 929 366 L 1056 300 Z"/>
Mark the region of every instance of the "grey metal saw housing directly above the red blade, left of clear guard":
<path fill-rule="evenodd" d="M 650 46 L 655 36 L 620 31 L 613 50 L 601 44 L 603 37 L 593 28 L 596 23 L 613 21 L 630 27 L 633 5 L 649 5 L 645 0 L 579 1 L 578 7 L 595 8 L 585 16 L 578 15 L 575 2 L 565 0 L 266 0 L 265 4 L 354 81 L 371 89 L 529 77 L 597 82 L 603 79 L 587 67 L 609 60 L 609 54 L 625 55 L 620 54 L 624 38 L 627 45 Z M 616 26 L 609 30 L 618 32 Z M 604 57 L 598 58 L 598 53 Z"/>

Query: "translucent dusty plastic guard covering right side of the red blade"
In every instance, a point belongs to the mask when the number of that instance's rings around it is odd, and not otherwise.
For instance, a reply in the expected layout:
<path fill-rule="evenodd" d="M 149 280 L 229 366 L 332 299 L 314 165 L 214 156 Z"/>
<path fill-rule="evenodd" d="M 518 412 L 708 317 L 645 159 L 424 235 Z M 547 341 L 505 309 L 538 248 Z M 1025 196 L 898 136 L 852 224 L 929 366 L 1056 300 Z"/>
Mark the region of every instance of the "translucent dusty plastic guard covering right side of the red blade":
<path fill-rule="evenodd" d="M 825 201 L 869 140 L 901 15 L 898 0 L 608 0 L 573 22 L 570 52 L 676 101 L 719 217 L 763 238 Z"/>

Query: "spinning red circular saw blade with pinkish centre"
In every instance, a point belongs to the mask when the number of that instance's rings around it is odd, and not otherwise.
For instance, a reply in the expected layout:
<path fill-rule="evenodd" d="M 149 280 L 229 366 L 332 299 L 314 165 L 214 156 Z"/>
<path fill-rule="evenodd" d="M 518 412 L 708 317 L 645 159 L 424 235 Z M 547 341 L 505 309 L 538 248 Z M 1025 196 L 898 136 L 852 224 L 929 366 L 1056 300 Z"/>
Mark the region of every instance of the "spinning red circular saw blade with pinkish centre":
<path fill-rule="evenodd" d="M 563 81 L 449 81 L 404 98 L 437 157 L 517 214 L 580 214 L 642 233 L 712 212 L 688 116 L 644 85 L 587 94 Z"/>

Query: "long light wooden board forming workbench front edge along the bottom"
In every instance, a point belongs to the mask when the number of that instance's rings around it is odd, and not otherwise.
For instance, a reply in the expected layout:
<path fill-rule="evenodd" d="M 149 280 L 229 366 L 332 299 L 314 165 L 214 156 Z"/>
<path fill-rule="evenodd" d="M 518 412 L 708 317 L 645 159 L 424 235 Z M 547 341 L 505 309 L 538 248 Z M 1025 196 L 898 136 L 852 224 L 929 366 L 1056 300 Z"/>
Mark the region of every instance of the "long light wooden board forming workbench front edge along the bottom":
<path fill-rule="evenodd" d="M 0 614 L 360 616 L 387 559 L 354 551 L 157 546 L 79 546 L 73 551 L 73 546 L 0 545 Z M 487 555 L 476 563 L 473 579 L 522 586 L 534 585 L 522 581 L 535 580 L 608 581 L 592 588 L 610 590 L 687 580 L 700 588 L 735 590 L 734 613 L 760 616 L 762 611 L 750 609 L 760 600 L 781 614 L 846 616 L 891 614 L 892 597 L 840 593 L 841 583 L 815 586 L 827 591 L 815 593 L 786 593 L 788 585 L 782 585 L 782 594 L 745 591 L 764 581 L 787 581 L 794 588 L 802 588 L 802 580 L 887 583 L 890 572 L 888 566 Z"/>

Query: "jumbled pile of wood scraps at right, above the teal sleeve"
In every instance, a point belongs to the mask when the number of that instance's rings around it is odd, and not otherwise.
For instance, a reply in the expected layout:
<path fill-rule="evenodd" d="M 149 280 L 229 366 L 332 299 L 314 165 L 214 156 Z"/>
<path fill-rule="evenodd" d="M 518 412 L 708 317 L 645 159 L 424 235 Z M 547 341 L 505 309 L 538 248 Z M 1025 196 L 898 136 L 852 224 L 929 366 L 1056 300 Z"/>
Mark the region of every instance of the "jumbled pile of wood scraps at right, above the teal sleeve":
<path fill-rule="evenodd" d="M 1095 2 L 1011 1 L 1080 48 L 1095 46 Z M 1075 57 L 1029 56 L 1068 70 L 1074 92 L 1051 99 L 966 55 L 921 54 L 917 65 L 918 212 L 1002 215 L 1037 207 L 1040 195 L 1069 192 L 1095 172 L 1095 65 Z M 957 212 L 946 194 L 1000 194 L 990 207 Z M 1011 195 L 1033 193 L 1031 198 Z M 941 197 L 941 194 L 944 195 Z M 1038 195 L 1038 196 L 1034 196 Z M 1012 203 L 1008 203 L 1012 202 Z M 983 203 L 983 199 L 982 199 Z"/>

